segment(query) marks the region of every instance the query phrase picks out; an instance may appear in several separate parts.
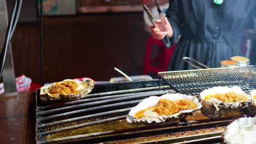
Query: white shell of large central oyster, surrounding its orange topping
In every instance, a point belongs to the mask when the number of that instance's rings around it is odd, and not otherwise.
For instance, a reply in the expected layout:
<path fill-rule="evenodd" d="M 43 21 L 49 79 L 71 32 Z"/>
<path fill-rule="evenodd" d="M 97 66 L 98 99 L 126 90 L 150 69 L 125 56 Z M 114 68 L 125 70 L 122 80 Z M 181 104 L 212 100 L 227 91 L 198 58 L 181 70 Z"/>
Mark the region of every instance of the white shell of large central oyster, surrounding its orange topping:
<path fill-rule="evenodd" d="M 174 113 L 174 114 L 168 115 L 168 116 L 158 116 L 158 113 L 154 112 L 153 109 L 152 109 L 152 110 L 145 111 L 143 113 L 143 115 L 145 115 L 144 117 L 137 118 L 135 116 L 135 114 L 139 111 L 145 110 L 149 107 L 156 106 L 160 99 L 167 99 L 167 100 L 171 100 L 171 101 L 181 100 L 181 99 L 190 100 L 194 104 L 196 104 L 196 108 L 191 109 L 191 110 L 189 110 L 189 109 L 181 110 L 177 113 Z M 200 107 L 201 107 L 201 103 L 199 103 L 199 100 L 197 99 L 197 97 L 191 96 L 191 95 L 184 95 L 184 94 L 175 93 L 175 94 L 164 94 L 161 97 L 152 96 L 152 97 L 144 99 L 137 106 L 133 107 L 131 109 L 131 111 L 129 112 L 129 114 L 126 116 L 126 120 L 129 123 L 133 123 L 133 122 L 135 122 L 135 123 L 137 123 L 137 122 L 160 123 L 160 122 L 164 122 L 164 121 L 167 121 L 167 120 L 170 121 L 172 119 L 182 118 L 186 114 L 193 113 L 195 110 L 199 110 Z"/>

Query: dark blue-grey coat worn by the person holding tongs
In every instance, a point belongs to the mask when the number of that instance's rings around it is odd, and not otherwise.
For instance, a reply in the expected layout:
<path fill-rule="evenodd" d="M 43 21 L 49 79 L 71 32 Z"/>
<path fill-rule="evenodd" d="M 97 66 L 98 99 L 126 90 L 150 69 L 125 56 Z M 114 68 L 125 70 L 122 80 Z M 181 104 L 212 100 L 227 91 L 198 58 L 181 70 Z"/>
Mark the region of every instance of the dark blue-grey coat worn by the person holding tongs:
<path fill-rule="evenodd" d="M 242 56 L 243 32 L 248 22 L 256 28 L 255 0 L 170 0 L 166 17 L 173 28 L 172 44 L 178 41 L 168 70 L 194 69 L 182 61 L 191 57 L 211 68 L 220 61 Z"/>

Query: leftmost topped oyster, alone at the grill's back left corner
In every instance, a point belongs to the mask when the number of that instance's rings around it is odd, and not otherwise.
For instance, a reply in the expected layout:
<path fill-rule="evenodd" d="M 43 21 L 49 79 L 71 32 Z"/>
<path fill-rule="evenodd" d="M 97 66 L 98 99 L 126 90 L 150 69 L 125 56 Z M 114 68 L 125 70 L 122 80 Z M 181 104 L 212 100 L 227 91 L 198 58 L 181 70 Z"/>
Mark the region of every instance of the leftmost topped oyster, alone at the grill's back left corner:
<path fill-rule="evenodd" d="M 63 80 L 40 88 L 40 99 L 43 101 L 77 100 L 86 97 L 94 88 L 94 82 Z"/>

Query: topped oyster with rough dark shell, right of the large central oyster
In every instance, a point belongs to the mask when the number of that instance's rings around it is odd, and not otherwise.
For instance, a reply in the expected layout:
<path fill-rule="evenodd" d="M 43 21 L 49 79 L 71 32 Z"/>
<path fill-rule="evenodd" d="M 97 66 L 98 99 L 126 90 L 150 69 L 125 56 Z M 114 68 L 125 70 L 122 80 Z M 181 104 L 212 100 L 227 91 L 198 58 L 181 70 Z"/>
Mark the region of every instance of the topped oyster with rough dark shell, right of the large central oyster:
<path fill-rule="evenodd" d="M 242 109 L 249 103 L 249 97 L 238 87 L 213 87 L 200 93 L 201 112 L 209 118 L 225 115 L 229 110 Z"/>

